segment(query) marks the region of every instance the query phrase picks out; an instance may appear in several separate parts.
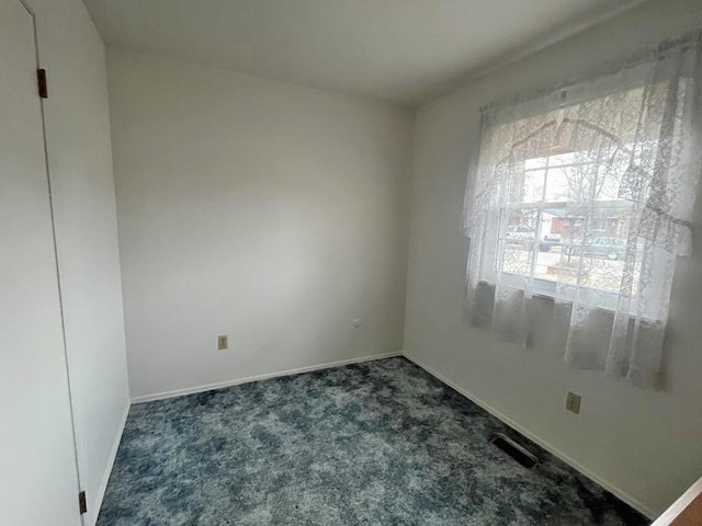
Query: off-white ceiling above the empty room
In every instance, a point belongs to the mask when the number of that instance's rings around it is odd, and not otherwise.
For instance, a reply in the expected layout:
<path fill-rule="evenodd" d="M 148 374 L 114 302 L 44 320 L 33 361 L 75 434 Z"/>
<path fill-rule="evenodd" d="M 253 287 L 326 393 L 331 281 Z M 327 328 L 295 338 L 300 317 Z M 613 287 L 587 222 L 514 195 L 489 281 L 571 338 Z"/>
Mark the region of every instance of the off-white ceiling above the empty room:
<path fill-rule="evenodd" d="M 415 105 L 639 0 L 84 0 L 109 46 Z"/>

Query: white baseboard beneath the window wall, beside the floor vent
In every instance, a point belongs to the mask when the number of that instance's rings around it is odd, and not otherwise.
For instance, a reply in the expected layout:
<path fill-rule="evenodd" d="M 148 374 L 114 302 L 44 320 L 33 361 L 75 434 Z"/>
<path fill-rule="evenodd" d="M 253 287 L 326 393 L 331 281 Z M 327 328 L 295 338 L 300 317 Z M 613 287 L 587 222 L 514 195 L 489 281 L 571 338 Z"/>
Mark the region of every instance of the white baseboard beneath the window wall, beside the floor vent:
<path fill-rule="evenodd" d="M 473 403 L 475 403 L 476 405 L 479 405 L 485 411 L 490 413 L 492 416 L 497 418 L 498 420 L 500 420 L 505 424 L 509 425 L 511 428 L 513 428 L 518 433 L 524 435 L 526 438 L 529 438 L 533 443 L 535 443 L 539 446 L 543 447 L 546 451 L 548 451 L 553 456 L 559 458 L 561 460 L 566 462 L 568 466 L 570 466 L 573 469 L 575 469 L 576 471 L 579 471 L 580 473 L 586 476 L 588 479 L 592 480 L 593 482 L 596 482 L 600 487 L 604 488 L 607 491 L 609 491 L 610 493 L 615 495 L 618 499 L 622 500 L 623 502 L 625 502 L 626 504 L 632 506 L 634 510 L 637 510 L 638 512 L 643 513 L 644 515 L 646 515 L 646 517 L 648 517 L 650 519 L 654 519 L 655 517 L 658 516 L 658 514 L 656 512 L 654 512 L 653 510 L 650 510 L 647 506 L 645 506 L 642 502 L 637 501 L 636 499 L 634 499 L 629 493 L 626 493 L 626 492 L 622 491 L 621 489 L 616 488 L 615 485 L 609 483 L 607 480 L 603 480 L 602 478 L 600 478 L 599 476 L 597 476 L 596 473 L 593 473 L 592 471 L 590 471 L 586 467 L 584 467 L 580 464 L 578 464 L 577 461 L 575 461 L 573 458 L 568 457 L 565 453 L 563 453 L 559 449 L 557 449 L 557 448 L 553 447 L 552 445 L 547 444 L 542 438 L 540 438 L 539 436 L 534 435 L 529 430 L 525 430 L 524 427 L 522 427 L 520 424 L 518 424 L 517 422 L 511 420 L 506 414 L 503 414 L 500 411 L 498 411 L 497 409 L 492 408 L 489 403 L 484 402 L 483 400 L 480 400 L 478 397 L 476 397 L 472 392 L 469 392 L 469 391 L 465 390 L 464 388 L 457 386 L 456 384 L 451 381 L 449 378 L 446 378 L 442 374 L 440 374 L 440 373 L 435 371 L 434 369 L 432 369 L 431 367 L 429 367 L 427 364 L 423 364 L 419 359 L 414 358 L 412 356 L 409 356 L 407 354 L 404 354 L 404 356 L 407 359 L 409 359 L 410 362 L 412 362 L 414 364 L 416 364 L 419 367 L 421 367 L 422 369 L 424 369 L 427 373 L 429 373 L 431 376 L 437 378 L 442 384 L 445 384 L 446 386 L 449 386 L 452 389 L 456 390 L 457 392 L 463 395 L 465 398 L 471 400 Z"/>

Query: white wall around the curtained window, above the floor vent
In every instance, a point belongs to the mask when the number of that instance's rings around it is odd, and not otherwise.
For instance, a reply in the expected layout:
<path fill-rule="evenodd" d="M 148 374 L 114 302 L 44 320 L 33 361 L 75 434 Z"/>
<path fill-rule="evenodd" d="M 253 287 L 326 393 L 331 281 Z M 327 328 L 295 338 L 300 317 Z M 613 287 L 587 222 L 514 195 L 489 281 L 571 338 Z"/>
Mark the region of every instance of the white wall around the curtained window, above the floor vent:
<path fill-rule="evenodd" d="M 474 81 L 418 112 L 410 219 L 406 354 L 649 514 L 702 476 L 702 232 L 680 266 L 671 308 L 668 388 L 644 391 L 600 371 L 575 370 L 563 350 L 520 351 L 462 322 L 466 240 L 460 230 L 479 106 L 548 87 L 641 46 L 702 26 L 702 2 L 659 0 Z M 582 396 L 580 415 L 564 409 Z"/>

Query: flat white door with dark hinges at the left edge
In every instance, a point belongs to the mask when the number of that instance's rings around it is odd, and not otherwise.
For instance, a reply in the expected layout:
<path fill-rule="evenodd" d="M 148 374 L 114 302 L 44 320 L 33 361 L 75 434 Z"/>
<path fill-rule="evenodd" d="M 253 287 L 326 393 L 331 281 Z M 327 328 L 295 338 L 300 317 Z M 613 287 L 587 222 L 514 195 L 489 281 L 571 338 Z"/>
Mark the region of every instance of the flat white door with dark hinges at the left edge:
<path fill-rule="evenodd" d="M 0 0 L 0 523 L 78 526 L 34 21 Z"/>

